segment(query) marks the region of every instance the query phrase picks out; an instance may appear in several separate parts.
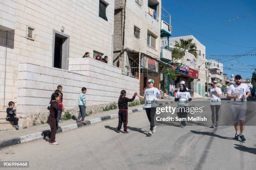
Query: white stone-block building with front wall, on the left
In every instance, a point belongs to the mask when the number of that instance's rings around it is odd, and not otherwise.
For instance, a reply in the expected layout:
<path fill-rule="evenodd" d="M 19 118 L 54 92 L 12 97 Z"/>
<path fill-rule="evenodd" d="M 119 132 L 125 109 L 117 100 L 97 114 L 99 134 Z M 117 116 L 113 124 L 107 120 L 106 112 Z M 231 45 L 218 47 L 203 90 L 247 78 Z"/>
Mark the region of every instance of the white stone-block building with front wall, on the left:
<path fill-rule="evenodd" d="M 0 0 L 0 121 L 9 101 L 24 121 L 46 115 L 58 84 L 67 109 L 77 107 L 83 86 L 89 105 L 116 101 L 128 88 L 123 80 L 132 83 L 128 94 L 138 91 L 138 80 L 112 66 L 114 6 L 114 0 Z M 108 64 L 82 60 L 85 52 L 107 55 Z"/>

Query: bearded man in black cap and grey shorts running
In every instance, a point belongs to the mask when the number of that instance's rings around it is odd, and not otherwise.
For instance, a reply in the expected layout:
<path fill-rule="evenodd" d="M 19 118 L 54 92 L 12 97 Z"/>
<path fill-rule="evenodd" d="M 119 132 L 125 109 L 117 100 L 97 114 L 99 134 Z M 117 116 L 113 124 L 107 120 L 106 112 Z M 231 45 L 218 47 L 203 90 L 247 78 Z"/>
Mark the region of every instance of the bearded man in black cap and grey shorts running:
<path fill-rule="evenodd" d="M 247 109 L 247 97 L 251 95 L 250 89 L 246 84 L 241 83 L 242 77 L 240 75 L 235 76 L 235 84 L 232 84 L 228 88 L 227 97 L 231 99 L 231 110 L 235 117 L 234 127 L 236 130 L 235 139 L 238 140 L 239 136 L 243 142 L 246 139 L 243 135 L 245 128 L 245 116 Z M 246 95 L 247 93 L 247 95 Z M 240 128 L 240 135 L 239 135 Z"/>

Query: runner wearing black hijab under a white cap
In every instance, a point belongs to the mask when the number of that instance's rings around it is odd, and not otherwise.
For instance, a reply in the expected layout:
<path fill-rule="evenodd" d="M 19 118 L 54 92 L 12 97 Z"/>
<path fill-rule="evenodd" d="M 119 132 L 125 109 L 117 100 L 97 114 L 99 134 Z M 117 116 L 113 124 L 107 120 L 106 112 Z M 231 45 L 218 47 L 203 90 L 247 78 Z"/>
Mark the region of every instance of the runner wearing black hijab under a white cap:
<path fill-rule="evenodd" d="M 179 85 L 179 91 L 176 93 L 174 101 L 178 102 L 177 115 L 181 121 L 180 124 L 182 128 L 186 128 L 188 102 L 191 100 L 192 98 L 187 90 L 187 87 L 185 86 L 185 83 L 181 83 Z"/>

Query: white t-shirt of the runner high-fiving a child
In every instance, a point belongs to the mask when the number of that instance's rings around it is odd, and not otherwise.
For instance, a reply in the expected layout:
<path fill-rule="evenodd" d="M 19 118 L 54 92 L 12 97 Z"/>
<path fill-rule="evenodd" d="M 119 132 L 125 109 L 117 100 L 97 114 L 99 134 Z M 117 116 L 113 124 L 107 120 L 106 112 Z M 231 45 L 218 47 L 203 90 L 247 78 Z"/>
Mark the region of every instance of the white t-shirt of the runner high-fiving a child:
<path fill-rule="evenodd" d="M 156 100 L 159 97 L 160 91 L 156 87 L 147 88 L 144 92 L 145 108 L 156 107 Z"/>

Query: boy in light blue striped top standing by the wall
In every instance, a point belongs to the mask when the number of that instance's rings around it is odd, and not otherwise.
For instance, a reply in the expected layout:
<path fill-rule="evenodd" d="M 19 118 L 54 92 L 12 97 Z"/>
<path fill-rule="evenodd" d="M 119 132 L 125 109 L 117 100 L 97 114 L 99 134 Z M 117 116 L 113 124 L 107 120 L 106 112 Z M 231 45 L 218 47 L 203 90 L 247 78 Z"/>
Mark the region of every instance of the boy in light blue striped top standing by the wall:
<path fill-rule="evenodd" d="M 85 87 L 82 87 L 82 92 L 80 93 L 78 100 L 79 100 L 79 115 L 77 117 L 77 122 L 82 122 L 86 124 L 87 122 L 84 120 L 85 117 L 85 111 L 86 111 L 86 100 L 85 100 L 85 93 L 87 89 Z M 82 117 L 82 120 L 80 118 Z"/>

